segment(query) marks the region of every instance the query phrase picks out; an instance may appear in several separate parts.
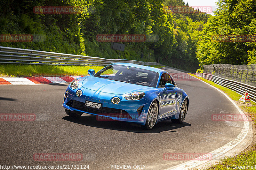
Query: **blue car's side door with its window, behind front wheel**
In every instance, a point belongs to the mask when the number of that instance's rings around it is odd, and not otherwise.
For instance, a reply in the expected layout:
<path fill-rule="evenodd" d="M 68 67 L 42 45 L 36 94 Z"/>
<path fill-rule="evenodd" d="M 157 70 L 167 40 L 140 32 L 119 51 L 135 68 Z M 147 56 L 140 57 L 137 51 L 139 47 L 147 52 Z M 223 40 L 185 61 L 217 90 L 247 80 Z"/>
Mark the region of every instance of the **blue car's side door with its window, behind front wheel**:
<path fill-rule="evenodd" d="M 176 88 L 173 90 L 164 90 L 164 85 L 166 83 L 171 83 L 175 85 L 175 82 L 171 76 L 167 73 L 161 75 L 160 83 L 158 88 L 162 88 L 159 92 L 160 97 L 160 110 L 159 110 L 159 119 L 164 119 L 169 116 L 175 115 L 177 113 L 177 91 Z"/>

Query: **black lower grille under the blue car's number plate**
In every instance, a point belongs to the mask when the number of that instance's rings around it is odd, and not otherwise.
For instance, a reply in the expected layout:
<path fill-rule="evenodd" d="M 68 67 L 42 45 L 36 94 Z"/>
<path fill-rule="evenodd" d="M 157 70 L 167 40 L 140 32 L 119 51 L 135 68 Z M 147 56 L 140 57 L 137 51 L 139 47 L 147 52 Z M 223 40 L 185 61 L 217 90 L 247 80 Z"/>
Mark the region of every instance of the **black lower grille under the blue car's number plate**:
<path fill-rule="evenodd" d="M 115 109 L 110 107 L 101 107 L 101 109 L 87 107 L 85 106 L 84 102 L 76 101 L 76 100 L 69 100 L 67 106 L 73 107 L 77 110 L 82 110 L 84 112 L 93 113 L 97 115 L 106 115 L 111 117 L 120 117 L 120 118 L 128 118 L 132 119 L 132 117 L 122 109 Z"/>

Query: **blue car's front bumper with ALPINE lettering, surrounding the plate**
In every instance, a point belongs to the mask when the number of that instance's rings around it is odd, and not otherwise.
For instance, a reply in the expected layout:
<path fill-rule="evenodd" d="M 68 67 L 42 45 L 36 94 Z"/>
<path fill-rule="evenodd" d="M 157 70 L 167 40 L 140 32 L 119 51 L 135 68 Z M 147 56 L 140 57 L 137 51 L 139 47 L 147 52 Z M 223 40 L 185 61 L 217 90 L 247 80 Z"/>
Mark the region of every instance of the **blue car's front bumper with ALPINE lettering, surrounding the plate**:
<path fill-rule="evenodd" d="M 79 89 L 82 90 L 83 94 L 82 96 L 77 97 L 76 91 Z M 62 106 L 71 111 L 79 111 L 91 115 L 107 117 L 108 119 L 111 118 L 113 120 L 145 125 L 150 101 L 146 99 L 129 101 L 124 99 L 126 95 L 127 94 L 118 95 L 93 91 L 83 87 L 78 87 L 73 90 L 68 86 Z M 120 102 L 118 104 L 113 104 L 111 102 L 113 97 L 119 97 Z M 86 107 L 85 101 L 100 103 L 101 109 Z"/>

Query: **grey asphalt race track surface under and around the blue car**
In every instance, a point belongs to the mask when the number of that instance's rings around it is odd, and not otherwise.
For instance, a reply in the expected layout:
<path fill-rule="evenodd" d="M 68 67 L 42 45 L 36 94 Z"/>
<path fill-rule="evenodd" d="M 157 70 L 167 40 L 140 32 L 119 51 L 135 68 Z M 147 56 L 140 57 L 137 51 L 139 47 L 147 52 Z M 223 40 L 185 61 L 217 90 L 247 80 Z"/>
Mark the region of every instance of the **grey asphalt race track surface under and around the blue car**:
<path fill-rule="evenodd" d="M 176 83 L 190 99 L 185 122 L 164 121 L 153 130 L 127 122 L 97 121 L 96 116 L 87 114 L 69 117 L 62 107 L 68 84 L 2 85 L 0 113 L 35 114 L 36 120 L 0 121 L 0 165 L 89 165 L 91 170 L 145 165 L 145 169 L 165 169 L 185 160 L 164 160 L 164 153 L 212 152 L 240 133 L 244 122 L 211 119 L 212 114 L 239 114 L 222 93 L 190 76 Z M 81 153 L 83 160 L 37 161 L 35 153 Z"/>

